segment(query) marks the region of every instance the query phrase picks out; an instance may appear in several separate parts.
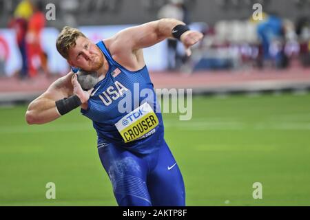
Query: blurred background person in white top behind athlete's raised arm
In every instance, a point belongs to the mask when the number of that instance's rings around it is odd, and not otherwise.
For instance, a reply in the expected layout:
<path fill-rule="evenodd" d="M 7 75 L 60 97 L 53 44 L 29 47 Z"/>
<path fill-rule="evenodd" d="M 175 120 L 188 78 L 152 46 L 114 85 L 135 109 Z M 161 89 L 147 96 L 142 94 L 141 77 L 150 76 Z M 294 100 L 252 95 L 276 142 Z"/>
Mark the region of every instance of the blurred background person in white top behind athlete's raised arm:
<path fill-rule="evenodd" d="M 183 21 L 184 23 L 189 23 L 189 12 L 185 6 L 183 0 L 169 0 L 167 5 L 164 5 L 158 11 L 158 19 L 172 18 Z M 167 39 L 168 47 L 168 69 L 175 70 L 176 67 L 180 67 L 182 63 L 186 60 L 186 55 L 181 54 L 177 50 L 178 41 L 175 39 Z"/>

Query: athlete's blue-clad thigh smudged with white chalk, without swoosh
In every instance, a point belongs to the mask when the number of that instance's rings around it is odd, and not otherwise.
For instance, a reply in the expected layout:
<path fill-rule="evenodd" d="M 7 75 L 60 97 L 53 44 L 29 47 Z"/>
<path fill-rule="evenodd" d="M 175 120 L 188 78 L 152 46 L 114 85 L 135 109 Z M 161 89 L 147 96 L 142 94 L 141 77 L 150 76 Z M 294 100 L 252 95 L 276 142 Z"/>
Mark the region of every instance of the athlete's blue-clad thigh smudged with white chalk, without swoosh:
<path fill-rule="evenodd" d="M 110 177 L 119 206 L 150 206 L 146 185 L 147 163 L 113 144 L 99 146 L 99 156 Z"/>

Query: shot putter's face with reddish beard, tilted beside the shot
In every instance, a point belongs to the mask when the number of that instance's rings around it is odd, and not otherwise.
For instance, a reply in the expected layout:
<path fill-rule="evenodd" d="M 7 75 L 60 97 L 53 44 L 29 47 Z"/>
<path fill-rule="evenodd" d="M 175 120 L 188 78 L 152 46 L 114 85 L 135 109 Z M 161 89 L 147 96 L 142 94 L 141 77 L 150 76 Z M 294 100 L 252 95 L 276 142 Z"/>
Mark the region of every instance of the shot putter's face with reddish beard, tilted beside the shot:
<path fill-rule="evenodd" d="M 69 49 L 68 63 L 87 72 L 95 72 L 103 66 L 103 54 L 92 41 L 79 36 L 76 45 Z"/>

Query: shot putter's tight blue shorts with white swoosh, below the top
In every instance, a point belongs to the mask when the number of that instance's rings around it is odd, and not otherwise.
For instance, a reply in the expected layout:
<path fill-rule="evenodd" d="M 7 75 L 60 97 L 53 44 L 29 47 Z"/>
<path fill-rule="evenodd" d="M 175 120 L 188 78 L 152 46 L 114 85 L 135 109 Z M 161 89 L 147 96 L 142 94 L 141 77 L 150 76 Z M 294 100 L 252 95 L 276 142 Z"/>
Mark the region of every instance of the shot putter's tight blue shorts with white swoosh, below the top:
<path fill-rule="evenodd" d="M 118 206 L 185 206 L 185 186 L 166 142 L 148 155 L 99 142 Z"/>

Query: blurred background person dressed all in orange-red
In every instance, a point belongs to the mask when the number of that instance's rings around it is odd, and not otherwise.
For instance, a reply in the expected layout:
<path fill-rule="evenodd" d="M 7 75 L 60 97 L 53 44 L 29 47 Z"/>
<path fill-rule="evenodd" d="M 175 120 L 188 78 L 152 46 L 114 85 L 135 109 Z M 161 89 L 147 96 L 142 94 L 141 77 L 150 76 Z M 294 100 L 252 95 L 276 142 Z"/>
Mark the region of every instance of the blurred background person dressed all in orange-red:
<path fill-rule="evenodd" d="M 32 5 L 34 13 L 30 17 L 26 36 L 29 76 L 37 76 L 39 67 L 49 76 L 47 55 L 41 47 L 41 32 L 45 27 L 45 14 L 41 11 L 41 2 L 38 1 Z"/>

